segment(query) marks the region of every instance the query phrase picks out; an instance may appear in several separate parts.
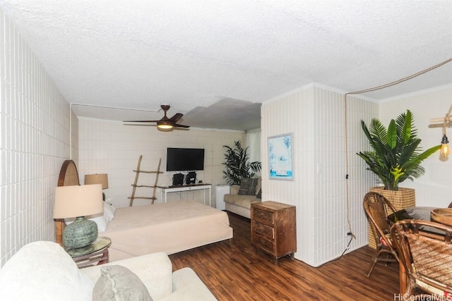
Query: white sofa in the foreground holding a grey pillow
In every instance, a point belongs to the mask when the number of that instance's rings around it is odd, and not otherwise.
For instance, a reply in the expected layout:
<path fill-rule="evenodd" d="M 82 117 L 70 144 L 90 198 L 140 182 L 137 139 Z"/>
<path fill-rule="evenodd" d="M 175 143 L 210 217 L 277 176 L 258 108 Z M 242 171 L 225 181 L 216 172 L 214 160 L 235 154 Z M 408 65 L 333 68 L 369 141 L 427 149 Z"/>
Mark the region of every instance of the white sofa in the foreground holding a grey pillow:
<path fill-rule="evenodd" d="M 216 300 L 192 269 L 173 272 L 164 252 L 78 269 L 62 247 L 49 241 L 25 245 L 4 264 L 0 300 L 93 300 L 102 267 L 112 265 L 136 274 L 135 283 L 141 280 L 152 300 Z"/>

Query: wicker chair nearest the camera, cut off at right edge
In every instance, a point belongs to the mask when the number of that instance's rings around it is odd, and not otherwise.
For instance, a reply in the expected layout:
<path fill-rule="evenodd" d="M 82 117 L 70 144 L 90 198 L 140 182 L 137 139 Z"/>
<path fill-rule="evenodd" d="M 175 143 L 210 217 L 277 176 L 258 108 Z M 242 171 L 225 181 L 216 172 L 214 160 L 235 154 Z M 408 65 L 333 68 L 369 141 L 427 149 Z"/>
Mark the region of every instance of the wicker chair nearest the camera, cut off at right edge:
<path fill-rule="evenodd" d="M 420 288 L 429 294 L 452 296 L 451 235 L 452 227 L 432 221 L 407 219 L 392 226 L 394 247 L 408 276 L 401 293 L 414 295 Z"/>

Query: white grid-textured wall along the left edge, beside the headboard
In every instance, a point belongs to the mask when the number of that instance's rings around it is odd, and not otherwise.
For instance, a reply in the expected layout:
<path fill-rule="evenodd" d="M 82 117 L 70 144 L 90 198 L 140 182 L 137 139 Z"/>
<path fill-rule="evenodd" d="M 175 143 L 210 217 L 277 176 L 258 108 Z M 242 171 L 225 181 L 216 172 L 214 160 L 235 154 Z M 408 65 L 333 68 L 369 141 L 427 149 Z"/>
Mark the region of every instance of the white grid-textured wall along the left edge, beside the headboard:
<path fill-rule="evenodd" d="M 28 242 L 54 240 L 54 188 L 69 156 L 69 104 L 1 9 L 0 132 L 3 266 Z"/>

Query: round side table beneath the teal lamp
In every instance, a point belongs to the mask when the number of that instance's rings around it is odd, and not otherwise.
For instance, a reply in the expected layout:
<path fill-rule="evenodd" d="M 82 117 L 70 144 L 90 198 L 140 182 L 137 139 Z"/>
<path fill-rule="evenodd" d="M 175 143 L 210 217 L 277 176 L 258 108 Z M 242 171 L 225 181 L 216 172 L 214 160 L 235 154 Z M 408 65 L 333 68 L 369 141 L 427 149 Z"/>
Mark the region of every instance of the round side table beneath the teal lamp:
<path fill-rule="evenodd" d="M 91 245 L 66 249 L 66 252 L 71 255 L 73 261 L 76 262 L 78 268 L 81 269 L 86 266 L 106 264 L 109 259 L 108 248 L 111 244 L 112 240 L 101 236 Z"/>

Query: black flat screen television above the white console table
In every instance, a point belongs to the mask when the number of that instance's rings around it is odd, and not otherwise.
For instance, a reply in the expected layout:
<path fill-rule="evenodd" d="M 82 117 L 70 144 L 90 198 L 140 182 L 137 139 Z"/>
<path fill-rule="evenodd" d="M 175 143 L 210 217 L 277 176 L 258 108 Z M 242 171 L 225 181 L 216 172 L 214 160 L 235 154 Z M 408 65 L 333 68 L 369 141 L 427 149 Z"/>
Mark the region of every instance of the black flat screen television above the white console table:
<path fill-rule="evenodd" d="M 204 149 L 167 148 L 167 171 L 203 171 Z"/>

